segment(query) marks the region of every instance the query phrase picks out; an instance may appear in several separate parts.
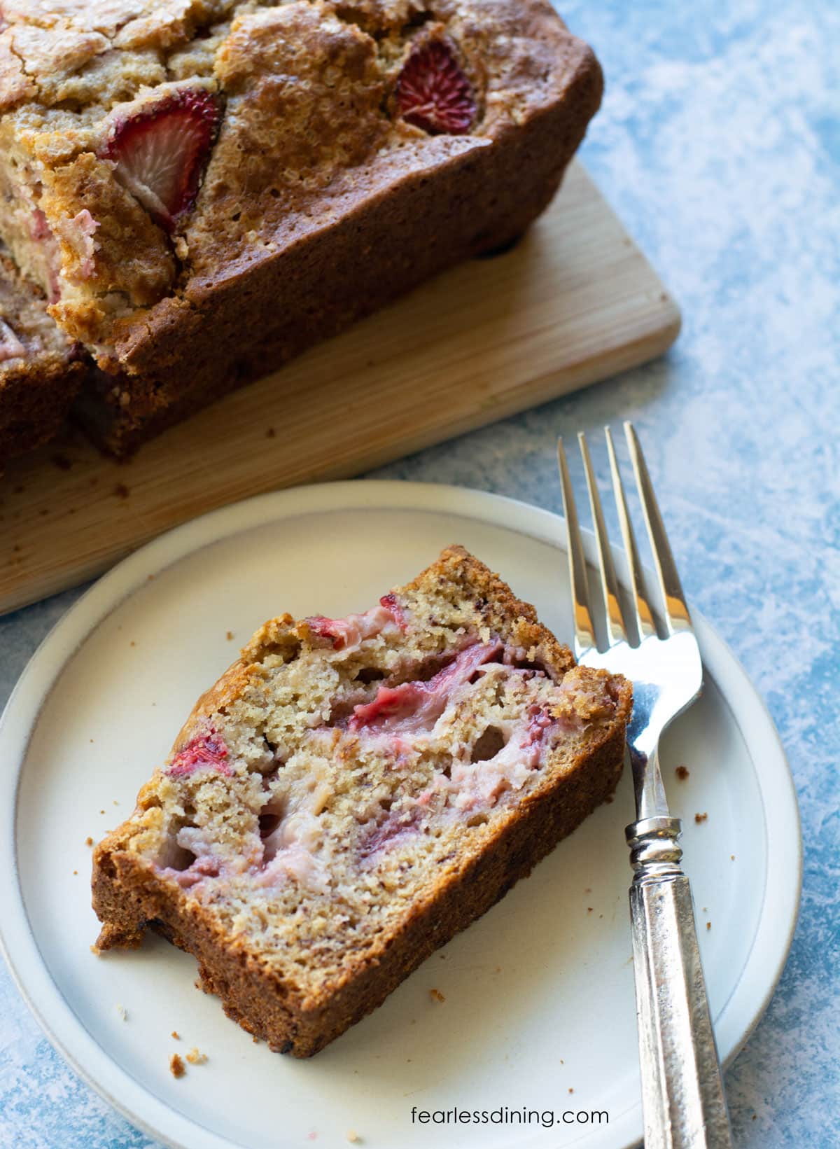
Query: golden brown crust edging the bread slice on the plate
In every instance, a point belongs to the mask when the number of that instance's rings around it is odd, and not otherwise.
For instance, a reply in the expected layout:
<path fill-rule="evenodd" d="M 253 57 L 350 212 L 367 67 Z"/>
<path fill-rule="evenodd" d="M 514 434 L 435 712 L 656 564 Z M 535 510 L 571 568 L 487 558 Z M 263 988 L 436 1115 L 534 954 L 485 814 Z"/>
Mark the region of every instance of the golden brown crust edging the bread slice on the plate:
<path fill-rule="evenodd" d="M 105 923 L 100 950 L 138 944 L 145 926 L 152 926 L 195 955 L 205 988 L 219 995 L 230 1017 L 272 1049 L 307 1057 L 379 1005 L 429 954 L 487 910 L 611 795 L 624 756 L 630 684 L 606 671 L 575 668 L 568 648 L 537 620 L 534 608 L 518 600 L 499 576 L 462 547 L 447 548 L 400 588 L 400 602 L 410 609 L 414 593 L 429 596 L 436 586 L 444 587 L 447 595 L 453 588 L 469 591 L 480 614 L 479 629 L 486 623 L 488 631 L 521 642 L 529 657 L 544 663 L 549 673 L 562 678 L 570 672 L 584 686 L 598 687 L 600 696 L 607 686 L 614 707 L 593 726 L 573 761 L 560 772 L 548 769 L 546 782 L 517 802 L 510 816 L 484 839 L 480 850 L 447 855 L 427 894 L 399 927 L 375 938 L 361 956 L 348 957 L 339 973 L 316 982 L 315 988 L 310 984 L 305 990 L 282 977 L 251 948 L 247 934 L 231 939 L 207 907 L 176 884 L 162 881 L 148 862 L 128 849 L 138 832 L 136 820 L 125 823 L 94 851 L 93 904 Z M 251 676 L 260 673 L 261 660 L 293 657 L 309 634 L 309 623 L 295 623 L 288 615 L 262 626 L 241 657 L 199 700 L 175 750 L 188 741 L 196 723 L 247 688 Z M 549 751 L 549 765 L 555 753 L 561 751 Z M 154 787 L 145 787 L 139 799 L 145 818 L 160 813 L 156 802 Z"/>

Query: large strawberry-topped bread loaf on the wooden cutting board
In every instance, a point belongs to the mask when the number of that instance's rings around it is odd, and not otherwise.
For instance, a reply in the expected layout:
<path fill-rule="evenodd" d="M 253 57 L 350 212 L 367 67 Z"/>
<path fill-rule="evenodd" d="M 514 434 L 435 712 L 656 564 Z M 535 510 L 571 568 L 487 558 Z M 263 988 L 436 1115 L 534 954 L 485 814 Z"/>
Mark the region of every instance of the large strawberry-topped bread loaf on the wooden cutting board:
<path fill-rule="evenodd" d="M 0 239 L 130 449 L 557 188 L 602 88 L 548 0 L 3 0 Z"/>

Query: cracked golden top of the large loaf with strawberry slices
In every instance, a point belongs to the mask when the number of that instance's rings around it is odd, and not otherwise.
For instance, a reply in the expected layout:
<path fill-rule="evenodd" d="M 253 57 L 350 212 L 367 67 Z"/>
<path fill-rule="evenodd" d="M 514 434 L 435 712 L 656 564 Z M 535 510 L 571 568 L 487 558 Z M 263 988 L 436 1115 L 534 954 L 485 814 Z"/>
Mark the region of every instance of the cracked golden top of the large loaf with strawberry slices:
<path fill-rule="evenodd" d="M 0 238 L 100 365 L 600 72 L 546 0 L 3 0 Z"/>

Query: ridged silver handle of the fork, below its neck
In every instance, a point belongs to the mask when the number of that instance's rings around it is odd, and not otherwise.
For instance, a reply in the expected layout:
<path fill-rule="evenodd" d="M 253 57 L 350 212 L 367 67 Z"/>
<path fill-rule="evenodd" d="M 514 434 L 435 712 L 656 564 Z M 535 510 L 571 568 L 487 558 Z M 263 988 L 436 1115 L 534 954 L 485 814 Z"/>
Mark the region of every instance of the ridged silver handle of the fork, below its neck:
<path fill-rule="evenodd" d="M 627 826 L 645 1149 L 730 1149 L 679 818 Z"/>

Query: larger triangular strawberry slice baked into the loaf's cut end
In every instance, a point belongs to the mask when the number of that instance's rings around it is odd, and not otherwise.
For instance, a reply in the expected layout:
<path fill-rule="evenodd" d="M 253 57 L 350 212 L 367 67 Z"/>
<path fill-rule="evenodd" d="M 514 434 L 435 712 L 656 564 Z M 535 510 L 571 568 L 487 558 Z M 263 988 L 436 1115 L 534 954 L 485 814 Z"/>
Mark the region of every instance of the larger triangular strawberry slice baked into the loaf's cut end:
<path fill-rule="evenodd" d="M 195 202 L 218 121 L 209 92 L 167 93 L 118 121 L 100 155 L 116 161 L 120 183 L 172 231 Z"/>

